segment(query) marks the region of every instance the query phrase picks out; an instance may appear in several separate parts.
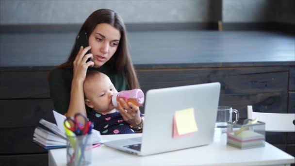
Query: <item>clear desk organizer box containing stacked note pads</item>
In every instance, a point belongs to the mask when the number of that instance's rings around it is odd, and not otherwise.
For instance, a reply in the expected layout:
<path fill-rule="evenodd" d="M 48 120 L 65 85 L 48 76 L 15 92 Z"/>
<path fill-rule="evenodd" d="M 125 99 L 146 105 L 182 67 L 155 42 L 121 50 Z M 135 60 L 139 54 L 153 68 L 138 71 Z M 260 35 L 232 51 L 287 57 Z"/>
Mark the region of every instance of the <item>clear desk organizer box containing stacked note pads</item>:
<path fill-rule="evenodd" d="M 265 123 L 258 121 L 255 124 L 247 124 L 246 119 L 243 124 L 228 122 L 227 144 L 240 149 L 264 147 L 265 143 Z"/>

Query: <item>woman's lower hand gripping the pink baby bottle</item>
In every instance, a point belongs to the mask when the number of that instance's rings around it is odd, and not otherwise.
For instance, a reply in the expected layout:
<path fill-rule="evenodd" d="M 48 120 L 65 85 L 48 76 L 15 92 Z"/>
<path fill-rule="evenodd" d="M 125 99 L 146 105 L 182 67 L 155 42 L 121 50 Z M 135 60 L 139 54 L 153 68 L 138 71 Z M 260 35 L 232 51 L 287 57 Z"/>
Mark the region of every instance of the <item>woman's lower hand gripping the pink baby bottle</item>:
<path fill-rule="evenodd" d="M 117 102 L 117 109 L 124 120 L 131 126 L 138 126 L 141 123 L 139 107 L 133 103 L 129 102 L 127 104 L 123 99 L 120 99 L 120 101 Z"/>

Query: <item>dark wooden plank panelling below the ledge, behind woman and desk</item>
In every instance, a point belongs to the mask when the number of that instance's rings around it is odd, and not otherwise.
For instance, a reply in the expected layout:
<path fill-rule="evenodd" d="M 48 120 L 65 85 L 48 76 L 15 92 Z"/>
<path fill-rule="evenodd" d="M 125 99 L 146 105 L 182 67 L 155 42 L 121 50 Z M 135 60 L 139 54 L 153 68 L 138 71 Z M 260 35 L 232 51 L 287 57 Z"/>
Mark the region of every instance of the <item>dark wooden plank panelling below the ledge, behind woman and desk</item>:
<path fill-rule="evenodd" d="M 289 66 L 137 69 L 136 72 L 145 93 L 155 88 L 220 82 L 219 105 L 238 109 L 240 118 L 246 118 L 246 105 L 253 105 L 255 111 L 270 113 L 295 110 L 295 92 L 292 92 L 295 90 L 295 67 L 290 72 Z M 0 165 L 48 164 L 47 150 L 33 143 L 33 131 L 39 119 L 54 122 L 47 74 L 47 70 L 0 70 L 3 115 L 0 116 Z M 144 113 L 144 107 L 141 111 Z M 267 132 L 266 141 L 292 152 L 290 148 L 294 146 L 289 146 L 295 142 L 292 134 Z M 30 163 L 38 156 L 37 162 Z"/>

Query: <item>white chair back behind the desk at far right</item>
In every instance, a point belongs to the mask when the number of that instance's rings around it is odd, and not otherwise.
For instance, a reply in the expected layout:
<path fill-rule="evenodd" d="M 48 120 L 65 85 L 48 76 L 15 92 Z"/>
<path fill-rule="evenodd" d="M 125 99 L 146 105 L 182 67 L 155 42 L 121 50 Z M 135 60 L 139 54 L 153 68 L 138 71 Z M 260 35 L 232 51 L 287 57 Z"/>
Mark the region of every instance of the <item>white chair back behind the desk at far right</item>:
<path fill-rule="evenodd" d="M 258 118 L 265 123 L 266 132 L 295 132 L 295 114 L 275 114 L 253 112 L 252 105 L 247 106 L 249 119 Z"/>

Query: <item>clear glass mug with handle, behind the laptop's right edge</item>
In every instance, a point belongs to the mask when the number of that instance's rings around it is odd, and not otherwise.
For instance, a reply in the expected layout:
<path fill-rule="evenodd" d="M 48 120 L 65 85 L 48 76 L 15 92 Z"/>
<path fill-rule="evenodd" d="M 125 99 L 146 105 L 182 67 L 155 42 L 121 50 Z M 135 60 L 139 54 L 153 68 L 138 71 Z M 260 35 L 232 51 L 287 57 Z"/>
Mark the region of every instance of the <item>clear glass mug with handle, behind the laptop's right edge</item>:
<path fill-rule="evenodd" d="M 235 113 L 235 120 L 232 121 L 232 113 Z M 228 122 L 235 124 L 239 120 L 239 111 L 234 110 L 229 106 L 218 106 L 215 130 L 226 132 Z"/>

